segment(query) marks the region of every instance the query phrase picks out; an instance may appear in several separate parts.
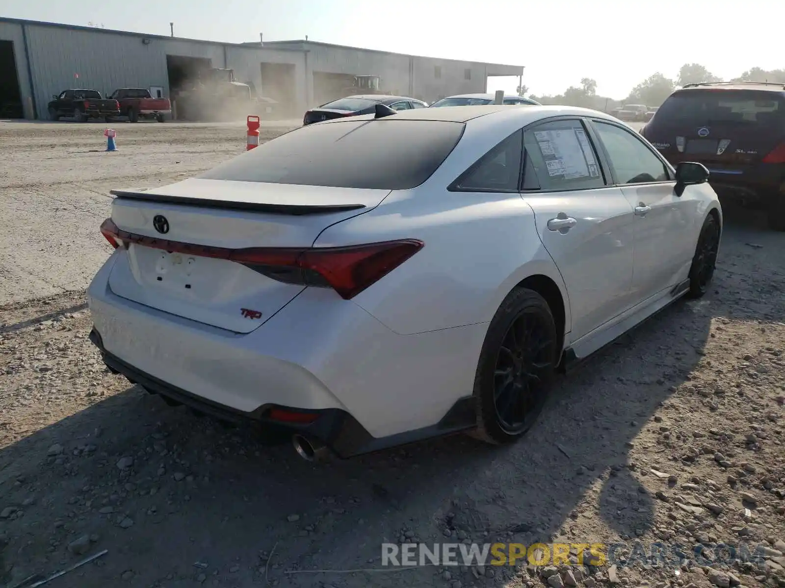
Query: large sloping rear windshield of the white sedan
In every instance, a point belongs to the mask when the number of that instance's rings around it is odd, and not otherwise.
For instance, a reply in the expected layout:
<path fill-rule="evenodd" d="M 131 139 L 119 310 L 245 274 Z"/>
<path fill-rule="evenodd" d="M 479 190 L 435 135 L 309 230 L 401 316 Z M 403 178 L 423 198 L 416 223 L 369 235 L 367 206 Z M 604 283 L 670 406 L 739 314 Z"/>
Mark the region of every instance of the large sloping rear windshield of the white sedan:
<path fill-rule="evenodd" d="M 199 176 L 206 180 L 408 190 L 460 140 L 460 122 L 395 120 L 307 125 Z"/>

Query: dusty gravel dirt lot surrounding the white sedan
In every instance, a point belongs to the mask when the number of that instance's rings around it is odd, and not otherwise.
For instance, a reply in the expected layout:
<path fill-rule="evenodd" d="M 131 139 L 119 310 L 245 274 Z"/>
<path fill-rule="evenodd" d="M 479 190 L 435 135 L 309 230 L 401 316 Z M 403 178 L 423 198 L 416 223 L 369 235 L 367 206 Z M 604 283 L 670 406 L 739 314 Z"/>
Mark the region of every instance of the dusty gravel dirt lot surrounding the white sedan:
<path fill-rule="evenodd" d="M 100 130 L 0 124 L 0 586 L 100 550 L 47 586 L 785 585 L 785 235 L 757 216 L 726 209 L 714 291 L 557 379 L 517 445 L 460 436 L 315 466 L 101 364 L 83 288 L 108 254 L 104 194 L 213 165 L 243 129 L 123 125 L 116 154 L 91 151 Z M 352 572 L 378 570 L 385 542 L 497 540 L 769 550 L 719 574 Z"/>

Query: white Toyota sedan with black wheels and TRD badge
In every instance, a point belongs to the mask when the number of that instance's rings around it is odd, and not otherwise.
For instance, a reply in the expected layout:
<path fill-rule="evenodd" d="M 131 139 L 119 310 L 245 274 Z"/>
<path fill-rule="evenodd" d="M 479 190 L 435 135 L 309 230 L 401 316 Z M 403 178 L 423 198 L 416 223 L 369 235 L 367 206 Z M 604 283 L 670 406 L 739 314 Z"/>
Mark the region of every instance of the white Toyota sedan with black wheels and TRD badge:
<path fill-rule="evenodd" d="M 285 426 L 306 459 L 513 441 L 557 370 L 707 292 L 707 178 L 579 108 L 319 122 L 113 191 L 90 337 L 149 392 Z"/>

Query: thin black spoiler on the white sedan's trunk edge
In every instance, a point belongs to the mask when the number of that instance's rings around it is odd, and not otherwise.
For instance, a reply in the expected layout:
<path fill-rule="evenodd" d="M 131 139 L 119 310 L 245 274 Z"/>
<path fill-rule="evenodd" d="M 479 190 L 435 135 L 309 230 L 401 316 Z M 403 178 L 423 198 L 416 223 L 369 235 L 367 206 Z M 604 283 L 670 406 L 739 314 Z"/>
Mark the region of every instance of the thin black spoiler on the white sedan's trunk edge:
<path fill-rule="evenodd" d="M 271 214 L 307 215 L 327 214 L 330 212 L 343 212 L 346 210 L 364 209 L 364 204 L 325 204 L 325 205 L 290 205 L 268 204 L 265 202 L 248 202 L 233 200 L 216 200 L 213 198 L 199 198 L 188 196 L 172 196 L 155 194 L 147 191 L 111 190 L 109 194 L 127 200 L 141 200 L 159 204 L 179 204 L 184 206 L 199 206 L 201 208 L 244 210 L 249 212 L 268 212 Z"/>

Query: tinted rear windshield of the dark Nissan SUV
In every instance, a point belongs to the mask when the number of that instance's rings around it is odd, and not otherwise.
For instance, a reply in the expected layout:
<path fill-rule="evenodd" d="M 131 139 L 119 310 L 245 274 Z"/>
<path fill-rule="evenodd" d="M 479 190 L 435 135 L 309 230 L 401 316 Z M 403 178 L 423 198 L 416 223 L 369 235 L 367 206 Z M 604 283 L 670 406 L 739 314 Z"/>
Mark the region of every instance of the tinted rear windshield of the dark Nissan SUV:
<path fill-rule="evenodd" d="M 675 93 L 657 111 L 658 121 L 708 125 L 717 122 L 766 123 L 785 119 L 785 103 L 772 92 L 687 90 Z"/>

